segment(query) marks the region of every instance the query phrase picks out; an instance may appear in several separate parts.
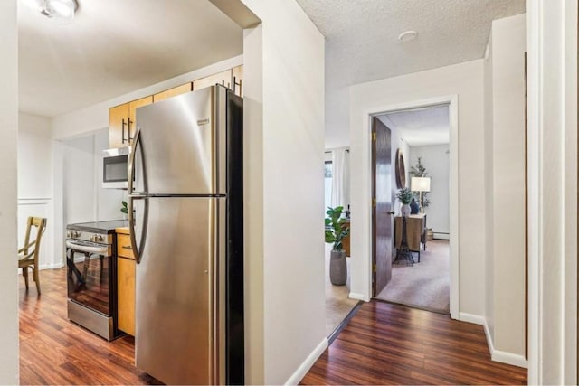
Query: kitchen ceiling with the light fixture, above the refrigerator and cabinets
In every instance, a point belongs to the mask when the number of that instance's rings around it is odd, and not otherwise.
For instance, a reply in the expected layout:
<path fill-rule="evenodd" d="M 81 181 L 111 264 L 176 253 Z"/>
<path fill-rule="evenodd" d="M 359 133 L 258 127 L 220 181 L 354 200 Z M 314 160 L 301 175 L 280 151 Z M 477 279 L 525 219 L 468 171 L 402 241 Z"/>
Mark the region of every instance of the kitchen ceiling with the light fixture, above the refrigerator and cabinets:
<path fill-rule="evenodd" d="M 52 117 L 242 54 L 207 0 L 78 0 L 70 25 L 18 2 L 20 110 Z"/>

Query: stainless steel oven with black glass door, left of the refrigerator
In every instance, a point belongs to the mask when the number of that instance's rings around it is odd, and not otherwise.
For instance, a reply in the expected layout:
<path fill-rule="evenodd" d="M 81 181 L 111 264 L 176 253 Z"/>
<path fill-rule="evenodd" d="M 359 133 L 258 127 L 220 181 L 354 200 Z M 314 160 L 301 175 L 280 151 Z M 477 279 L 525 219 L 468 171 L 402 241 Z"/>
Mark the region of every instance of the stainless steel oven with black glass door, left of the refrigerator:
<path fill-rule="evenodd" d="M 119 336 L 116 240 L 114 228 L 99 229 L 95 224 L 67 226 L 68 317 L 110 341 Z"/>

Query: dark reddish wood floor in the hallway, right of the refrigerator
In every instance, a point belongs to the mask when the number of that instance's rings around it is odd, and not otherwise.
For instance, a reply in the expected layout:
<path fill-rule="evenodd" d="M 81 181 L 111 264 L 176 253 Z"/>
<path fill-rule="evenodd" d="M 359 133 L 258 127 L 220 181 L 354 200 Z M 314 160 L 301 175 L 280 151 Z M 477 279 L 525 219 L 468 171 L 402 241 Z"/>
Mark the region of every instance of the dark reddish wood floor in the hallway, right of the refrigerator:
<path fill-rule="evenodd" d="M 527 370 L 492 362 L 480 325 L 372 301 L 301 384 L 527 384 Z"/>

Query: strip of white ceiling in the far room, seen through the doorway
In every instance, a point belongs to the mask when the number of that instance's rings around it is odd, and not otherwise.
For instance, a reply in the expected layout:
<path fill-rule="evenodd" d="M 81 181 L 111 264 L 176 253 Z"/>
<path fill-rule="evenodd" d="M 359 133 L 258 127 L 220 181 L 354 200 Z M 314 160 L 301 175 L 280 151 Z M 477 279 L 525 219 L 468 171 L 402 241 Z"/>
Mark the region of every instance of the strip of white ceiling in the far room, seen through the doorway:
<path fill-rule="evenodd" d="M 403 110 L 378 118 L 398 131 L 408 146 L 441 145 L 450 141 L 448 105 Z"/>

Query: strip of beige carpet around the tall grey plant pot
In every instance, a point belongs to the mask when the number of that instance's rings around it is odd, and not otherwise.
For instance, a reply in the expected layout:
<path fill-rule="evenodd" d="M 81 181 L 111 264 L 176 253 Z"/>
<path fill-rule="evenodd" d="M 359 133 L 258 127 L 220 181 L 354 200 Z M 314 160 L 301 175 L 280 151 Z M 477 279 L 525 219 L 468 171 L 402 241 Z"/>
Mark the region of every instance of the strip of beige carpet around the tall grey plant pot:
<path fill-rule="evenodd" d="M 346 286 L 333 286 L 330 283 L 329 251 L 331 249 L 331 245 L 326 244 L 326 336 L 334 332 L 358 302 L 356 299 L 347 297 L 350 293 L 350 258 L 347 258 Z"/>

